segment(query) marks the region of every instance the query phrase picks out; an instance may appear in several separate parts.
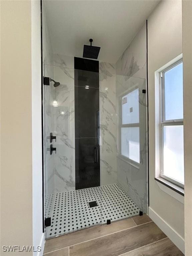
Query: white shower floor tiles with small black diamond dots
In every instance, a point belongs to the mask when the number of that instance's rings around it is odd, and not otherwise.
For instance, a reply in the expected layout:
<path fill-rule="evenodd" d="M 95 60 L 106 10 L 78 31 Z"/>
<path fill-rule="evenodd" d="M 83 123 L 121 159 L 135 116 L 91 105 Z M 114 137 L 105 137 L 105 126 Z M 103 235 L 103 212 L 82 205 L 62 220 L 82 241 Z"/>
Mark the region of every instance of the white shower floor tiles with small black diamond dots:
<path fill-rule="evenodd" d="M 57 193 L 46 200 L 46 216 L 51 217 L 46 238 L 138 214 L 139 208 L 117 184 Z"/>

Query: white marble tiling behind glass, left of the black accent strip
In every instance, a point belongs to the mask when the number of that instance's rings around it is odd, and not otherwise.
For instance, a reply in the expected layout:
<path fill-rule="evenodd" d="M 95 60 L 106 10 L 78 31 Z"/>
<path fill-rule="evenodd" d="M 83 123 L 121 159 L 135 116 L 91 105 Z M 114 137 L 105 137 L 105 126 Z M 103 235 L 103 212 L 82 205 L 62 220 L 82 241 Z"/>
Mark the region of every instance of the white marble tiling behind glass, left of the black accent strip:
<path fill-rule="evenodd" d="M 55 192 L 61 193 L 75 190 L 74 69 L 54 66 L 54 80 L 60 82 L 55 88 Z"/>

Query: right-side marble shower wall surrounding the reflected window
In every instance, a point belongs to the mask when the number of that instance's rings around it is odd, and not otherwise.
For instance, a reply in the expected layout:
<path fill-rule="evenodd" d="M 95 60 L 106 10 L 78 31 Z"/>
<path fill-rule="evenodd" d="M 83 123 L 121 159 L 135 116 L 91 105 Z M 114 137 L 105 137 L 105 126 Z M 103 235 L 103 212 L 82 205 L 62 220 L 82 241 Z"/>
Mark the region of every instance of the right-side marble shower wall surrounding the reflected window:
<path fill-rule="evenodd" d="M 130 89 L 134 84 L 145 88 L 142 83 L 144 80 L 135 80 L 130 77 L 139 77 L 146 79 L 147 76 L 147 52 L 146 52 L 146 24 L 139 30 L 130 45 L 126 48 L 122 56 L 116 63 L 116 111 L 117 111 L 117 183 L 134 201 L 134 203 L 146 212 L 147 201 L 147 180 L 146 180 L 146 101 L 145 95 L 141 100 L 140 105 L 143 105 L 142 117 L 140 119 L 140 158 L 141 163 L 138 167 L 133 166 L 129 162 L 124 161 L 120 156 L 120 122 L 121 114 L 119 104 L 119 97 L 124 91 Z"/>

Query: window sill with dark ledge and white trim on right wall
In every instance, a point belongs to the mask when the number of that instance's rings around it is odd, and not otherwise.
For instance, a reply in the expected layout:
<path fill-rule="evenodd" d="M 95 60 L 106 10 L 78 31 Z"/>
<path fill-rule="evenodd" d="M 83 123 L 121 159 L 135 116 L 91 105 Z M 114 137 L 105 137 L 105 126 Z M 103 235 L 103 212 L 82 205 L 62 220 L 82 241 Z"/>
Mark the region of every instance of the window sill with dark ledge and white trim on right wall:
<path fill-rule="evenodd" d="M 155 180 L 162 191 L 184 204 L 184 188 L 162 177 L 155 177 Z"/>

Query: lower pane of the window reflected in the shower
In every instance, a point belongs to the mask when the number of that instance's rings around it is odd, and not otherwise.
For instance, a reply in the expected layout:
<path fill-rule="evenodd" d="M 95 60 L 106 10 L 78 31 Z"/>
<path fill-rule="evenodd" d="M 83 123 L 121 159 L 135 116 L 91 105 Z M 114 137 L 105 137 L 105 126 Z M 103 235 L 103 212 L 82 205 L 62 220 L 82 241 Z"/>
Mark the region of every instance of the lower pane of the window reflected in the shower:
<path fill-rule="evenodd" d="M 139 127 L 121 128 L 121 154 L 139 163 Z"/>

